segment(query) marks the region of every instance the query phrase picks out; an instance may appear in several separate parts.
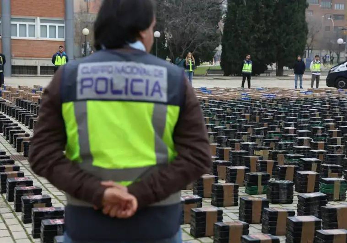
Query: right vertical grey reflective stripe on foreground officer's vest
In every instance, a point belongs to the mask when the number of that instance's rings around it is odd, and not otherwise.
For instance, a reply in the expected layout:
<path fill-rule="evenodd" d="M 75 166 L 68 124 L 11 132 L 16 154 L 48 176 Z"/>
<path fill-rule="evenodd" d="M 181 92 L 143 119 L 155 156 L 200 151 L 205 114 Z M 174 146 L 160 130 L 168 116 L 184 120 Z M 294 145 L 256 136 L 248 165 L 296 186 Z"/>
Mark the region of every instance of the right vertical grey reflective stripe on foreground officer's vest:
<path fill-rule="evenodd" d="M 156 164 L 168 164 L 169 154 L 167 145 L 163 141 L 168 107 L 164 104 L 154 104 L 152 124 L 155 136 Z"/>

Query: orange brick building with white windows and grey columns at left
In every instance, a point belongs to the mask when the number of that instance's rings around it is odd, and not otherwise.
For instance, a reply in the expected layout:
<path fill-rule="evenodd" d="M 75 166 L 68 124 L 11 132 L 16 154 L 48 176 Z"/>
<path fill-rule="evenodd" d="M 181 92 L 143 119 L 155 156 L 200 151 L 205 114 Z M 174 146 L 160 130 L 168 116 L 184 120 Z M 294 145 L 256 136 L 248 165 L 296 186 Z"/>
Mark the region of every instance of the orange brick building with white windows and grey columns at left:
<path fill-rule="evenodd" d="M 92 28 L 102 0 L 0 0 L 0 51 L 6 56 L 5 76 L 51 75 L 52 55 L 64 45 L 70 60 L 92 46 Z M 11 64 L 11 65 L 9 65 Z"/>

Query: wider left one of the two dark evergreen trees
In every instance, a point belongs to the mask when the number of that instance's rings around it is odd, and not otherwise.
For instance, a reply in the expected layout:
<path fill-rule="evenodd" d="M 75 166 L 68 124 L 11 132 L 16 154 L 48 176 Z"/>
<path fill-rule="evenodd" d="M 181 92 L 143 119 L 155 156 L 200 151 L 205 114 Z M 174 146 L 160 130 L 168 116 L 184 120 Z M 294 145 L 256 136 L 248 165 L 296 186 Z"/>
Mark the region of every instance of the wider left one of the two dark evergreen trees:
<path fill-rule="evenodd" d="M 253 74 L 261 74 L 274 60 L 273 0 L 228 0 L 222 37 L 221 67 L 225 75 L 242 73 L 242 60 L 250 53 Z"/>

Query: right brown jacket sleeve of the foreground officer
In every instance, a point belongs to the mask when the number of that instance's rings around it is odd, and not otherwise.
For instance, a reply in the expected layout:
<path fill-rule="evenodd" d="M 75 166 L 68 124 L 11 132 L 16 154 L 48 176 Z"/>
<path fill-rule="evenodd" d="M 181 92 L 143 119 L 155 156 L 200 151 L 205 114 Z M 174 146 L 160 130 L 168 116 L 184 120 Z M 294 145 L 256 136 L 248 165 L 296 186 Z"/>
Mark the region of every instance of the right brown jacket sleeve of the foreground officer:
<path fill-rule="evenodd" d="M 172 163 L 142 181 L 128 186 L 136 196 L 139 208 L 166 199 L 201 175 L 212 166 L 206 125 L 192 86 L 185 80 L 186 99 L 174 132 L 178 156 Z"/>

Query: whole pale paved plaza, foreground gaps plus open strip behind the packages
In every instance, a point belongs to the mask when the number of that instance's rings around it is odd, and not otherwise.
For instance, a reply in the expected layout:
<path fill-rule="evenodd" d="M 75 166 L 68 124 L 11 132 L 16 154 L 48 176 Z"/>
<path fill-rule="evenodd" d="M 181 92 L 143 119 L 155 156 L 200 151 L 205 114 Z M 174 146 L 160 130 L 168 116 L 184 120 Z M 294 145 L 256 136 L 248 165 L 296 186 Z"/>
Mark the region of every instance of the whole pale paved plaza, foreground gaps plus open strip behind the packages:
<path fill-rule="evenodd" d="M 310 86 L 310 76 L 304 77 L 304 87 L 308 88 Z M 11 77 L 5 79 L 7 85 L 28 85 L 32 86 L 34 84 L 46 86 L 51 78 L 44 77 Z M 195 87 L 239 87 L 241 83 L 240 77 L 195 77 L 194 81 Z M 252 79 L 253 87 L 293 87 L 294 86 L 293 77 L 254 77 Z M 322 77 L 322 85 L 325 86 L 325 77 Z M 10 117 L 9 117 L 10 118 Z M 19 124 L 24 131 L 31 134 L 32 130 L 29 130 L 26 126 L 22 125 L 18 121 L 10 118 Z M 62 207 L 66 204 L 66 198 L 63 192 L 59 191 L 57 188 L 52 186 L 46 179 L 35 175 L 29 167 L 28 161 L 26 158 L 16 152 L 16 150 L 10 145 L 5 138 L 0 135 L 0 149 L 5 150 L 7 154 L 11 155 L 11 158 L 16 160 L 17 165 L 20 166 L 20 170 L 24 172 L 25 176 L 29 176 L 33 178 L 34 186 L 42 187 L 42 194 L 48 194 L 52 198 L 53 207 Z M 220 181 L 224 183 L 225 181 Z M 240 187 L 239 196 L 247 195 L 244 193 L 245 187 Z M 191 195 L 192 190 L 183 190 L 182 195 Z M 294 193 L 294 203 L 293 204 L 270 204 L 270 207 L 286 207 L 289 209 L 296 210 L 297 204 L 297 193 Z M 257 197 L 266 197 L 266 195 L 255 195 Z M 347 202 L 328 202 L 330 205 L 341 204 Z M 6 195 L 2 194 L 0 197 L 0 243 L 32 243 L 32 242 L 40 242 L 40 239 L 33 239 L 31 237 L 31 224 L 23 224 L 20 220 L 21 213 L 14 211 L 14 203 L 7 202 Z M 203 200 L 203 207 L 210 207 L 211 199 Z M 238 220 L 238 206 L 236 207 L 224 207 L 223 209 L 223 221 L 234 221 Z M 185 242 L 197 243 L 197 242 L 205 242 L 212 243 L 212 237 L 203 237 L 194 239 L 190 234 L 190 226 L 183 225 L 183 240 Z M 260 224 L 252 224 L 249 227 L 249 234 L 260 233 L 261 225 Z M 281 243 L 285 242 L 284 236 L 279 236 L 281 239 Z"/>

